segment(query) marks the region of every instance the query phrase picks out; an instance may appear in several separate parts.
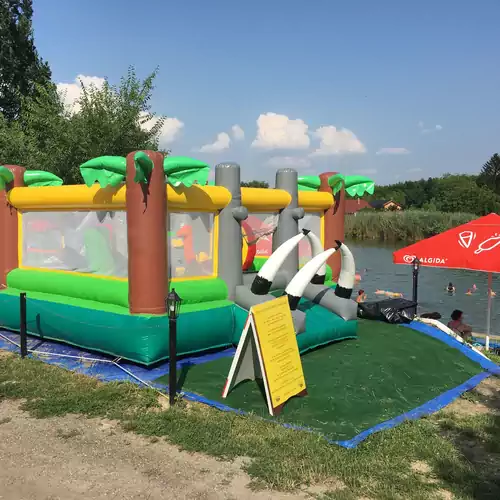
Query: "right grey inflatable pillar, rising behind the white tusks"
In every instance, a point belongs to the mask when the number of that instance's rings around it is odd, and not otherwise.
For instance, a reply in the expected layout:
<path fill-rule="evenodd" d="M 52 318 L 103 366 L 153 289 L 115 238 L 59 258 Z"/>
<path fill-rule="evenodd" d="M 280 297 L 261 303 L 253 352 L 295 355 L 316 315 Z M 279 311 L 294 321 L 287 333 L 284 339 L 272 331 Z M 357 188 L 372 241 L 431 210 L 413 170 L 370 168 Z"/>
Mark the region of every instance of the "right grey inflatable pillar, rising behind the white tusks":
<path fill-rule="evenodd" d="M 304 217 L 304 209 L 299 208 L 298 174 L 291 168 L 281 168 L 276 172 L 276 189 L 287 191 L 292 197 L 290 204 L 279 214 L 278 225 L 273 236 L 273 252 L 285 241 L 299 233 L 299 220 Z M 279 285 L 283 286 L 293 278 L 299 269 L 299 249 L 294 248 L 279 271 Z"/>

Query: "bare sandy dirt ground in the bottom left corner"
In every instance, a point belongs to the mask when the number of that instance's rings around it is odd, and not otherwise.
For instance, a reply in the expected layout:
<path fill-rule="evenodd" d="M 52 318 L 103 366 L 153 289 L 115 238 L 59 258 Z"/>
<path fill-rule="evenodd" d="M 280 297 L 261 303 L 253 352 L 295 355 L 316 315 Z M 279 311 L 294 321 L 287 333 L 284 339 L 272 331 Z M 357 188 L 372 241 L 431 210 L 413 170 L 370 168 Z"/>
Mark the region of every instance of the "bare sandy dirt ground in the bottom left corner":
<path fill-rule="evenodd" d="M 252 492 L 241 462 L 177 450 L 110 421 L 34 419 L 0 403 L 0 499 L 304 499 Z"/>

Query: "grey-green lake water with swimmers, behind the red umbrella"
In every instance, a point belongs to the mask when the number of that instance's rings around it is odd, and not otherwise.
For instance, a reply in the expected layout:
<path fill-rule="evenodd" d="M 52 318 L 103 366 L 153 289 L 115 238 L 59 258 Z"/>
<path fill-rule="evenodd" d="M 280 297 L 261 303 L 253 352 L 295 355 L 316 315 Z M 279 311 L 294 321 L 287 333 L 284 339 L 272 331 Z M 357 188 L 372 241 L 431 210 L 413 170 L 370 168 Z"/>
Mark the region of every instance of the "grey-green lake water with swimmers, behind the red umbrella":
<path fill-rule="evenodd" d="M 360 288 L 365 290 L 368 295 L 367 301 L 387 298 L 384 295 L 375 295 L 377 289 L 400 292 L 405 298 L 411 299 L 411 266 L 392 263 L 392 252 L 406 244 L 388 245 L 358 241 L 346 241 L 346 243 L 354 254 L 356 269 L 361 274 L 356 292 Z M 445 287 L 450 281 L 457 289 L 455 295 L 448 295 L 445 292 Z M 473 284 L 476 284 L 477 291 L 473 295 L 466 295 L 465 292 Z M 486 273 L 421 266 L 418 281 L 419 312 L 437 311 L 442 315 L 441 321 L 447 323 L 453 309 L 461 309 L 464 311 L 465 321 L 472 325 L 474 331 L 486 332 L 487 290 Z M 495 274 L 493 274 L 493 290 L 498 296 L 492 298 L 491 333 L 498 335 L 500 334 L 500 279 Z"/>

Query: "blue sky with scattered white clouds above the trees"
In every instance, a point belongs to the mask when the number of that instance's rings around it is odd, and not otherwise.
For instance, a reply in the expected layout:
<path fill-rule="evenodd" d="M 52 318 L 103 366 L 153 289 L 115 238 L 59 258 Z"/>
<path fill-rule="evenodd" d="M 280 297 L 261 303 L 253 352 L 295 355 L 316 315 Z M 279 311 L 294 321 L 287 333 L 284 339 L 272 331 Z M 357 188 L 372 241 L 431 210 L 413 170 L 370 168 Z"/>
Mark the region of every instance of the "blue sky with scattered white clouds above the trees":
<path fill-rule="evenodd" d="M 159 66 L 163 145 L 212 165 L 237 161 L 247 180 L 272 181 L 283 165 L 384 184 L 477 172 L 500 150 L 498 0 L 34 0 L 34 9 L 37 48 L 54 81 L 73 84 L 68 98 L 77 75 L 117 83 L 129 65 L 141 77 Z"/>

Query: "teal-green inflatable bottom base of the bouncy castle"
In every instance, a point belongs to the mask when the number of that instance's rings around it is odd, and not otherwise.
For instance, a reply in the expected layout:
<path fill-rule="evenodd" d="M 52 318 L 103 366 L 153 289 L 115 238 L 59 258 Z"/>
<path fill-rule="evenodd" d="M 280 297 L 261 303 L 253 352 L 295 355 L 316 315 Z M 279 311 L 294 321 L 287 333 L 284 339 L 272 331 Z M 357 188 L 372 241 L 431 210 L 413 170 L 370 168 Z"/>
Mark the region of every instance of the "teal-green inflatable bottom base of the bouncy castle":
<path fill-rule="evenodd" d="M 21 290 L 0 292 L 0 325 L 19 330 Z M 167 316 L 130 315 L 116 305 L 103 305 L 40 292 L 27 294 L 28 333 L 47 340 L 118 356 L 146 366 L 168 358 Z M 331 342 L 356 338 L 357 321 L 344 321 L 302 300 L 307 330 L 297 336 L 301 353 Z M 248 312 L 228 300 L 187 304 L 177 321 L 177 353 L 192 355 L 236 346 Z"/>

